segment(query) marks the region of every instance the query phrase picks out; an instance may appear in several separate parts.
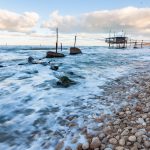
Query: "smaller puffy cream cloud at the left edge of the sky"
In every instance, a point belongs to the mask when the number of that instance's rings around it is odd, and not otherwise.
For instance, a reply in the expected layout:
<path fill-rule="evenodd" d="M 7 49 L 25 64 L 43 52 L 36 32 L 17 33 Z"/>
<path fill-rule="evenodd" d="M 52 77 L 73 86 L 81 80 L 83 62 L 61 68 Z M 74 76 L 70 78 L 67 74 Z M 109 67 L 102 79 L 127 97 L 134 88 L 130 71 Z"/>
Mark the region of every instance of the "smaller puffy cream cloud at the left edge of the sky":
<path fill-rule="evenodd" d="M 10 32 L 30 32 L 37 24 L 39 15 L 35 12 L 18 14 L 0 9 L 0 30 Z"/>

